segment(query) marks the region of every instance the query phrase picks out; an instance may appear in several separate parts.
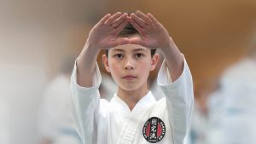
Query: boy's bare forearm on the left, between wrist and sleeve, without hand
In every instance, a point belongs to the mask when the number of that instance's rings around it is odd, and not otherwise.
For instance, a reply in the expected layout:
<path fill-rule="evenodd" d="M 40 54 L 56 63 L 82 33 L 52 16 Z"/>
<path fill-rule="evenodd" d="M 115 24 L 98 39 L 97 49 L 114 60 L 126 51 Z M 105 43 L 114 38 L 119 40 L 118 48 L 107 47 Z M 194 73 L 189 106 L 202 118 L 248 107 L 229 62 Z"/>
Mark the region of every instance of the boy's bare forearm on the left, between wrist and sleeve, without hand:
<path fill-rule="evenodd" d="M 85 43 L 77 60 L 77 83 L 82 87 L 92 86 L 92 76 L 95 72 L 96 59 L 99 49 L 94 48 L 89 43 Z"/>

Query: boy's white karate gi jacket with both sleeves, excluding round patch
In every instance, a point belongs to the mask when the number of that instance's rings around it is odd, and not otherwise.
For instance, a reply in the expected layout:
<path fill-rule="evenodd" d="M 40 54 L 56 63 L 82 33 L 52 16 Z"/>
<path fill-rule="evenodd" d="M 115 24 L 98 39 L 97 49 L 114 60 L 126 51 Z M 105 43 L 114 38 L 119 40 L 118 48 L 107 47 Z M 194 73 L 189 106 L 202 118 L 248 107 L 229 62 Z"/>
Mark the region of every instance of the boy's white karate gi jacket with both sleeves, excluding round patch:
<path fill-rule="evenodd" d="M 84 144 L 148 144 L 143 137 L 143 126 L 152 117 L 160 118 L 166 129 L 157 143 L 183 143 L 194 104 L 192 78 L 185 60 L 181 77 L 173 83 L 166 63 L 161 66 L 158 84 L 165 98 L 155 101 L 148 92 L 132 111 L 117 95 L 110 102 L 100 99 L 98 87 L 102 78 L 98 66 L 91 88 L 77 84 L 76 72 L 75 65 L 71 82 L 74 120 Z"/>

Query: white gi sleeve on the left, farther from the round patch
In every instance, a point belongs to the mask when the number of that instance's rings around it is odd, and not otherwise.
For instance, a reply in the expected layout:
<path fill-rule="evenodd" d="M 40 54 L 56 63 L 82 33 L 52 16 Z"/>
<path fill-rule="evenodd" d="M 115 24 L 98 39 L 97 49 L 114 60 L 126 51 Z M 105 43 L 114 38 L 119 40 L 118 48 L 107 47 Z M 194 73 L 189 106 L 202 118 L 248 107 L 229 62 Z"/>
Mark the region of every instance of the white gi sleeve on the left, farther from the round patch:
<path fill-rule="evenodd" d="M 96 121 L 100 107 L 99 86 L 102 76 L 96 65 L 93 75 L 93 84 L 85 88 L 77 84 L 76 62 L 71 76 L 71 93 L 73 97 L 73 120 L 83 144 L 92 144 L 96 141 Z"/>

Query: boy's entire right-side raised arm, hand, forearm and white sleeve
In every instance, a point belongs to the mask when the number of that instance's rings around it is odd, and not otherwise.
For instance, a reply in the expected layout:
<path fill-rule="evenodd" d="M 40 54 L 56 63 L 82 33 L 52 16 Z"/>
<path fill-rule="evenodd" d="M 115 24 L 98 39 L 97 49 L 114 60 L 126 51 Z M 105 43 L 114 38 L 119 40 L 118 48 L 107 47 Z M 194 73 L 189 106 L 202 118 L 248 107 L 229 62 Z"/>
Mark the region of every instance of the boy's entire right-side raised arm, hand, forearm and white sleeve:
<path fill-rule="evenodd" d="M 131 43 L 161 49 L 165 56 L 158 84 L 166 95 L 166 110 L 172 125 L 174 144 L 181 144 L 189 128 L 194 103 L 189 67 L 166 28 L 152 14 L 137 11 L 136 14 L 131 14 L 130 21 L 142 36 L 142 40 L 133 38 Z"/>

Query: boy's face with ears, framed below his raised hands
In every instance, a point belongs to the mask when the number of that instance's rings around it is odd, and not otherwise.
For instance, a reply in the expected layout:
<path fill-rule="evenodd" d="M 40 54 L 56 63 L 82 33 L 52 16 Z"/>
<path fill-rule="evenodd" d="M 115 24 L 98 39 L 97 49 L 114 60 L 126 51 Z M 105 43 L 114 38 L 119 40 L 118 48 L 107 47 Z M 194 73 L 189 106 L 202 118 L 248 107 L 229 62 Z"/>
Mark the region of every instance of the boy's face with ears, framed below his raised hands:
<path fill-rule="evenodd" d="M 102 56 L 105 68 L 111 73 L 119 88 L 128 91 L 147 88 L 149 72 L 153 71 L 158 55 L 151 56 L 150 49 L 137 44 L 119 45 Z"/>

